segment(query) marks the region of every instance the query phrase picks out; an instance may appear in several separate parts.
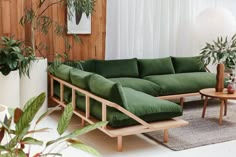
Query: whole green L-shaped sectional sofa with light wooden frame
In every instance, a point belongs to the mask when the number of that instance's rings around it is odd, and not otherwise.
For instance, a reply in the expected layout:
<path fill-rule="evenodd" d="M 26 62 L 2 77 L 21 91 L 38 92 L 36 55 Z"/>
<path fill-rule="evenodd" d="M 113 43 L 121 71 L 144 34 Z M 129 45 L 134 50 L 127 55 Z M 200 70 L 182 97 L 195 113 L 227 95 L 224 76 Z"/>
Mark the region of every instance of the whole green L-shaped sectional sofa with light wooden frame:
<path fill-rule="evenodd" d="M 51 96 L 59 104 L 72 101 L 78 113 L 82 112 L 79 116 L 89 123 L 92 116 L 107 120 L 111 130 L 120 129 L 119 134 L 102 130 L 119 137 L 118 145 L 125 135 L 160 129 L 167 133 L 168 128 L 187 124 L 173 119 L 182 115 L 181 106 L 158 97 L 197 93 L 216 84 L 215 74 L 202 68 L 198 56 L 86 60 L 79 64 L 82 69 L 64 64 L 55 69 Z"/>

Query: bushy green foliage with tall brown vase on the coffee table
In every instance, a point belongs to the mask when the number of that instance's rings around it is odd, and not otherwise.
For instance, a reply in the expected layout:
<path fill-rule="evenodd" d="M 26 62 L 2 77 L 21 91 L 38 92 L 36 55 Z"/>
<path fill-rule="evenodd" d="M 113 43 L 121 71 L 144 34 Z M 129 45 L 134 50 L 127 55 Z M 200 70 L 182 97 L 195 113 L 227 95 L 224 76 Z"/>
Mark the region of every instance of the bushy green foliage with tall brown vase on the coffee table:
<path fill-rule="evenodd" d="M 205 66 L 217 64 L 216 92 L 224 89 L 224 69 L 225 66 L 235 70 L 236 65 L 236 34 L 231 39 L 218 37 L 212 43 L 206 43 L 201 49 L 201 60 Z"/>

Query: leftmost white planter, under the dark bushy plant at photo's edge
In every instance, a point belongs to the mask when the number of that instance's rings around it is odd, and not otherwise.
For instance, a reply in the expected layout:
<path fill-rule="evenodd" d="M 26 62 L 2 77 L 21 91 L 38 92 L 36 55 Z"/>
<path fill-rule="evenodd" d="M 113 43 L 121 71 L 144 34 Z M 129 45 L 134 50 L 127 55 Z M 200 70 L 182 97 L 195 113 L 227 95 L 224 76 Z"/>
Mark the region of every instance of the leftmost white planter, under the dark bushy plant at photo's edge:
<path fill-rule="evenodd" d="M 11 71 L 7 76 L 0 73 L 0 105 L 20 107 L 19 70 Z"/>

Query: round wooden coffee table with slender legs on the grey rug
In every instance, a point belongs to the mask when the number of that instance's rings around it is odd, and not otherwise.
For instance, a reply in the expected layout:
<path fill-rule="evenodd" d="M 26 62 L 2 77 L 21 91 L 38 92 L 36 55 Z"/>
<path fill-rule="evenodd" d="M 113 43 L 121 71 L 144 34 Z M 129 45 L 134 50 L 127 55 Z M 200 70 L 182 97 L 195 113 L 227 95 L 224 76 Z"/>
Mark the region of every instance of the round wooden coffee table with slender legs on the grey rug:
<path fill-rule="evenodd" d="M 219 99 L 221 101 L 220 103 L 220 116 L 219 116 L 219 124 L 222 124 L 222 117 L 223 117 L 223 111 L 224 111 L 224 115 L 227 115 L 227 100 L 228 99 L 236 99 L 236 93 L 234 94 L 228 94 L 227 93 L 227 89 L 224 89 L 223 92 L 216 92 L 215 88 L 206 88 L 206 89 L 202 89 L 199 91 L 199 93 L 202 96 L 205 96 L 205 100 L 204 100 L 204 106 L 203 106 L 203 110 L 202 110 L 202 118 L 205 117 L 205 112 L 206 112 L 206 108 L 207 108 L 207 103 L 208 103 L 208 98 L 216 98 Z"/>

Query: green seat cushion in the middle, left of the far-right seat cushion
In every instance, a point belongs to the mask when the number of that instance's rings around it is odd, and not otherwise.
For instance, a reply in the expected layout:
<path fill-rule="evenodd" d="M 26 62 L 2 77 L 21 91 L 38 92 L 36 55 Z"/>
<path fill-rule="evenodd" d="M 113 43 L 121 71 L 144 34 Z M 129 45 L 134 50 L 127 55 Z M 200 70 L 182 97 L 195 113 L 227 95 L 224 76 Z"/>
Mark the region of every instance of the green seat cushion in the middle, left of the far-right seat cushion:
<path fill-rule="evenodd" d="M 129 87 L 152 96 L 158 96 L 161 89 L 157 84 L 139 78 L 122 77 L 110 78 L 110 80 L 120 83 L 123 87 Z"/>

